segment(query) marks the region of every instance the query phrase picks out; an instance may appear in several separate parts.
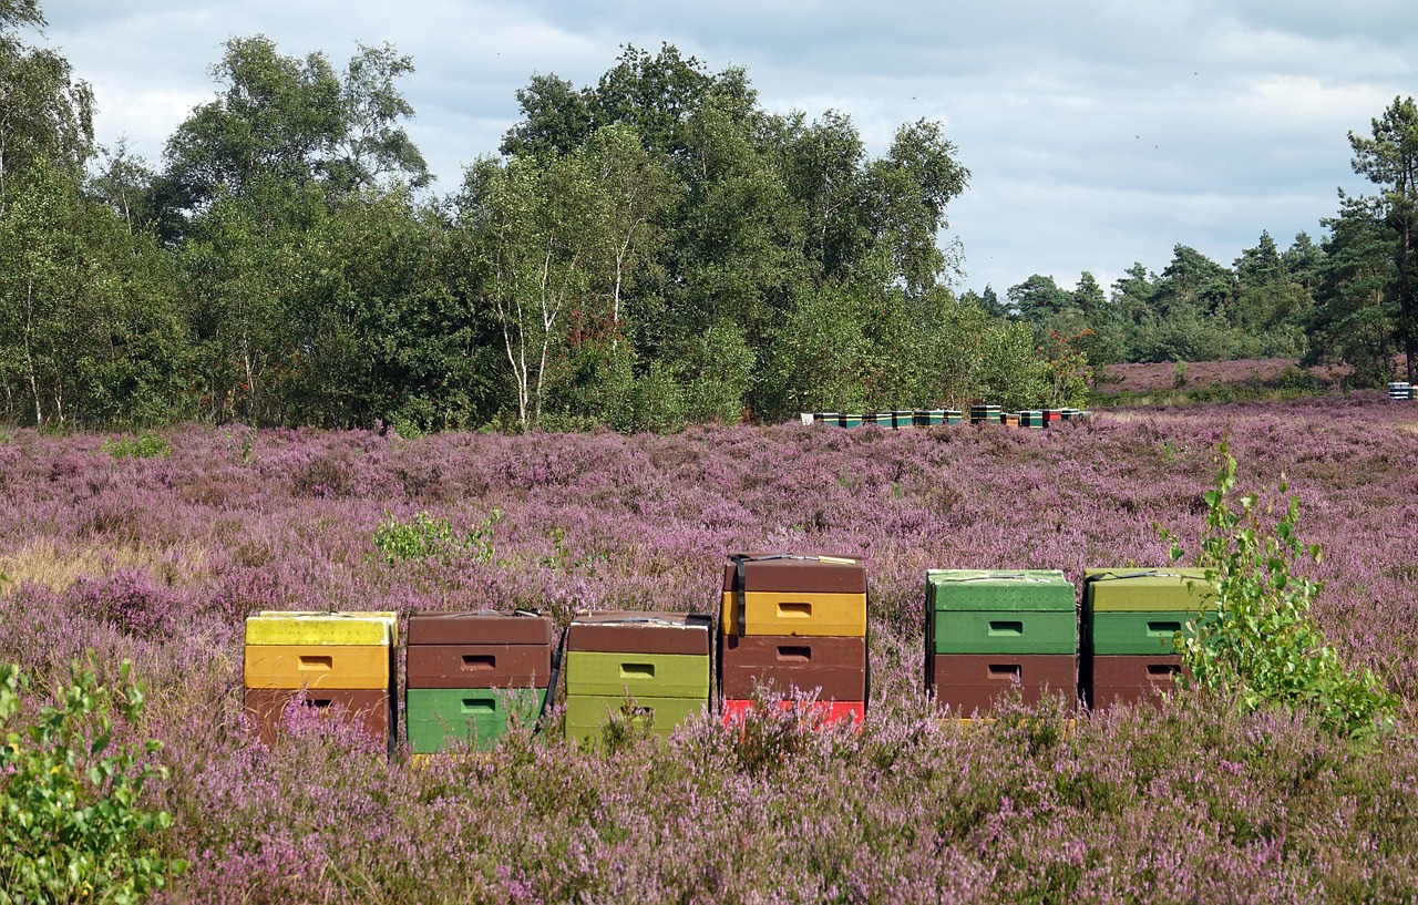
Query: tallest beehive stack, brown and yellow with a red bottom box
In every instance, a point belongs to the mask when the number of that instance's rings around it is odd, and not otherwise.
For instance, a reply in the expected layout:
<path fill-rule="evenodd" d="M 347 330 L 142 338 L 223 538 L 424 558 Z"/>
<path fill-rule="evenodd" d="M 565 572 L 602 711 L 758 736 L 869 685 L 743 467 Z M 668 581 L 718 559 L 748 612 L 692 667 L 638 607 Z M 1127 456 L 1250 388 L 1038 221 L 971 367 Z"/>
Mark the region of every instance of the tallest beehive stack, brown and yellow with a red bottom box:
<path fill-rule="evenodd" d="M 732 553 L 723 572 L 719 689 L 733 719 L 754 689 L 791 706 L 814 695 L 827 722 L 866 714 L 866 566 L 855 556 Z"/>

